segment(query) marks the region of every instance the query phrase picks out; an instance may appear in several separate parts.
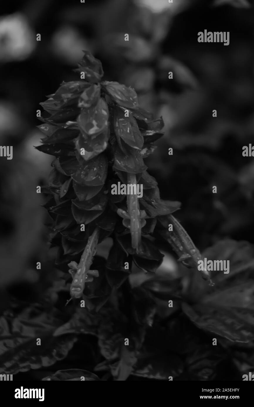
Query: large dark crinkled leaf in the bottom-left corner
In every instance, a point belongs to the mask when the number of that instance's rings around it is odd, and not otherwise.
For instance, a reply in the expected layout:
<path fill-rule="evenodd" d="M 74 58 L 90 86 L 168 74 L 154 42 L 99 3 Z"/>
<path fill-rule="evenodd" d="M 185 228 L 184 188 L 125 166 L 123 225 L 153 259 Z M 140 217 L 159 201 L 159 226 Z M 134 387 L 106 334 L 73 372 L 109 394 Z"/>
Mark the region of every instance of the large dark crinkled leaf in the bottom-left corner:
<path fill-rule="evenodd" d="M 19 313 L 0 317 L 0 372 L 17 374 L 53 365 L 64 359 L 76 341 L 74 335 L 54 338 L 66 315 L 49 304 L 32 304 Z M 41 345 L 37 346 L 37 338 Z M 15 352 L 13 352 L 15 349 Z"/>

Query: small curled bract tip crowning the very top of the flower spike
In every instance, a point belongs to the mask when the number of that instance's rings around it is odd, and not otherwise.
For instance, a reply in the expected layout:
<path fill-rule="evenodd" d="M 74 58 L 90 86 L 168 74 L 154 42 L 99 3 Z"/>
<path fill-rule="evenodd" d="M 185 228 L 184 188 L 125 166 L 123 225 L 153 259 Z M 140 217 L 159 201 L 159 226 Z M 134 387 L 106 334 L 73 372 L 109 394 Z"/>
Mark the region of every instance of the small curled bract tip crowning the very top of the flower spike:
<path fill-rule="evenodd" d="M 79 62 L 79 69 L 76 69 L 76 72 L 84 72 L 85 80 L 91 83 L 97 83 L 101 81 L 104 72 L 102 69 L 102 63 L 99 59 L 93 57 L 89 51 L 83 51 L 84 56 L 82 61 Z"/>

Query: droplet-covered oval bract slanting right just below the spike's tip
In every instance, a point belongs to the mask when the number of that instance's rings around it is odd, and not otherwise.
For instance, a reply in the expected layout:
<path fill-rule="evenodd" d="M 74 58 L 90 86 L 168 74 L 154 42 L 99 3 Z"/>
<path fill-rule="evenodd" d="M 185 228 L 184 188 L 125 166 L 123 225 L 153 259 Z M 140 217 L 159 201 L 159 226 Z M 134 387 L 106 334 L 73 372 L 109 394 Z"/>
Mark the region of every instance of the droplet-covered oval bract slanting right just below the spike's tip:
<path fill-rule="evenodd" d="M 126 107 L 126 109 L 137 107 L 137 94 L 134 89 L 127 88 L 118 82 L 108 81 L 103 82 L 102 86 L 118 106 Z"/>

